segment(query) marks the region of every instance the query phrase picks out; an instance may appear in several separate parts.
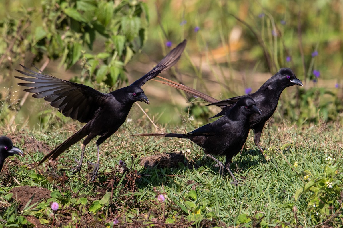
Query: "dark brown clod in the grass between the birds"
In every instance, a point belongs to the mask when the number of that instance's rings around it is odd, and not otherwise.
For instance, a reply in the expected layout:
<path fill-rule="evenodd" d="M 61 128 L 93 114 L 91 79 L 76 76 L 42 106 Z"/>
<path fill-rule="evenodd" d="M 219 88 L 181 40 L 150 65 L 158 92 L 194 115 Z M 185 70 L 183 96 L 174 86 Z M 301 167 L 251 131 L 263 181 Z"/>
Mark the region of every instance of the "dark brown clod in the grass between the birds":
<path fill-rule="evenodd" d="M 185 165 L 188 164 L 188 160 L 185 158 L 183 153 L 162 153 L 142 158 L 140 164 L 145 168 L 155 166 L 162 168 L 177 168 L 179 167 L 179 162 Z"/>

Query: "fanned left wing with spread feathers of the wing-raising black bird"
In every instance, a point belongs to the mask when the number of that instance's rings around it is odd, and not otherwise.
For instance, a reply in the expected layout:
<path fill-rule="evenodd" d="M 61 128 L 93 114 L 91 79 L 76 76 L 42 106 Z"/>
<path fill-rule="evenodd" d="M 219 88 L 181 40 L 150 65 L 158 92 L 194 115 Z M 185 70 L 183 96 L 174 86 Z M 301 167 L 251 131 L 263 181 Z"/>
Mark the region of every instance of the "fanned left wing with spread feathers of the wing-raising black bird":
<path fill-rule="evenodd" d="M 58 108 L 64 116 L 80 122 L 88 122 L 91 120 L 95 111 L 102 105 L 103 100 L 108 96 L 87 85 L 46 75 L 38 68 L 36 69 L 40 72 L 35 72 L 23 65 L 21 66 L 29 72 L 17 70 L 18 72 L 33 77 L 26 78 L 16 76 L 16 78 L 33 82 L 18 83 L 22 86 L 31 87 L 24 91 L 35 93 L 32 95 L 35 98 L 44 97 L 46 101 L 50 102 L 52 107 Z"/>

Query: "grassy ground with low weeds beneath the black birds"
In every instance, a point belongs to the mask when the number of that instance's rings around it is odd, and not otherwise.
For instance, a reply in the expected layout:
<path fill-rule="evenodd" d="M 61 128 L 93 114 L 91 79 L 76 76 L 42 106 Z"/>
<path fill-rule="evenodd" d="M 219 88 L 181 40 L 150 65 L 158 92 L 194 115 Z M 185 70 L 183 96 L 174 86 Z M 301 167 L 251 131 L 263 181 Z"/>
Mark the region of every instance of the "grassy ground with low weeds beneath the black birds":
<path fill-rule="evenodd" d="M 196 123 L 185 120 L 186 128 L 168 126 L 167 129 L 187 132 L 194 128 L 193 124 Z M 74 157 L 80 155 L 80 144 L 56 162 L 35 166 L 34 162 L 80 126 L 70 123 L 58 130 L 23 129 L 17 135 L 9 135 L 16 146 L 23 148 L 25 157 L 11 157 L 3 168 L 0 226 L 340 227 L 342 224 L 339 169 L 342 128 L 338 124 L 302 127 L 287 122 L 271 124 L 264 130 L 262 141 L 265 148 L 270 148 L 270 161 L 253 146 L 253 136 L 249 135 L 244 152 L 231 165 L 238 186 L 231 184 L 229 175 L 218 175 L 214 162 L 203 159 L 203 152 L 188 140 L 130 136 L 166 131 L 156 130 L 145 121 L 145 116 L 125 123 L 102 145 L 95 182 L 89 182 L 92 166 L 86 163 L 80 174 L 72 175 L 69 171 L 75 165 Z M 280 149 L 286 144 L 293 145 Z M 95 151 L 92 141 L 85 161 L 95 161 Z M 176 167 L 140 165 L 143 157 L 180 151 L 187 160 L 185 163 L 181 159 Z M 120 160 L 125 162 L 127 171 L 119 164 Z M 36 195 L 29 200 L 33 192 Z M 18 202 L 20 199 L 22 202 Z M 59 204 L 56 212 L 51 210 L 52 202 Z"/>

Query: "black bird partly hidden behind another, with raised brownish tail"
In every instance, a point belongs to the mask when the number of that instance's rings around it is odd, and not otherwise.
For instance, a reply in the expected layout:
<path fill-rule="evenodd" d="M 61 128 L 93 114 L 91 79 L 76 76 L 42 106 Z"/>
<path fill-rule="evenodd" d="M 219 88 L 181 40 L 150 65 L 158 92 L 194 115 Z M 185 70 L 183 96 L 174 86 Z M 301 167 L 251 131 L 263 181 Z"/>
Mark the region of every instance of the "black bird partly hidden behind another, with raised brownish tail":
<path fill-rule="evenodd" d="M 165 79 L 165 78 L 162 78 L 162 79 Z M 218 101 L 217 99 L 210 97 L 206 94 L 203 94 L 192 88 L 189 88 L 188 86 L 173 82 L 168 79 L 165 79 L 165 80 L 168 82 L 163 82 L 163 81 L 160 81 L 160 82 L 163 84 L 170 85 L 174 88 L 186 91 L 187 93 L 190 93 L 207 102 L 212 103 L 209 105 L 221 106 L 223 110 L 217 115 L 213 116 L 212 118 L 224 115 L 227 110 L 233 107 L 232 104 L 235 104 L 240 98 L 250 97 L 253 100 L 255 100 L 257 106 L 261 110 L 262 115 L 257 115 L 257 114 L 251 115 L 249 124 L 250 124 L 250 129 L 253 129 L 255 133 L 255 144 L 261 150 L 262 153 L 263 153 L 263 149 L 260 146 L 260 138 L 261 138 L 263 126 L 265 122 L 273 115 L 276 109 L 277 103 L 279 102 L 279 98 L 282 91 L 286 89 L 288 86 L 292 86 L 292 85 L 303 86 L 303 83 L 295 77 L 291 69 L 281 68 L 275 75 L 269 78 L 260 87 L 260 89 L 258 89 L 255 93 Z"/>

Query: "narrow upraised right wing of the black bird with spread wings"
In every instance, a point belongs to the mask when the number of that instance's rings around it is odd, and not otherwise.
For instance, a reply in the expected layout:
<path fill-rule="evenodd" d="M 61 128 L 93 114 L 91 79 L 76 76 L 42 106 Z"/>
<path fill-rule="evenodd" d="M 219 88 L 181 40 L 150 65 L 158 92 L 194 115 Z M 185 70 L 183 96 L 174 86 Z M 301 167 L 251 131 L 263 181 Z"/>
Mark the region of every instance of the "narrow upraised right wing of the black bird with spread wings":
<path fill-rule="evenodd" d="M 155 78 L 159 73 L 168 70 L 170 67 L 174 66 L 177 61 L 180 59 L 182 52 L 186 47 L 187 41 L 184 40 L 179 43 L 176 48 L 171 50 L 162 60 L 159 62 L 151 71 L 149 71 L 146 75 L 138 79 L 137 81 L 133 82 L 131 85 L 142 86 L 145 82 L 149 81 L 150 79 Z"/>

